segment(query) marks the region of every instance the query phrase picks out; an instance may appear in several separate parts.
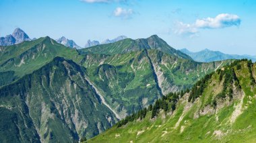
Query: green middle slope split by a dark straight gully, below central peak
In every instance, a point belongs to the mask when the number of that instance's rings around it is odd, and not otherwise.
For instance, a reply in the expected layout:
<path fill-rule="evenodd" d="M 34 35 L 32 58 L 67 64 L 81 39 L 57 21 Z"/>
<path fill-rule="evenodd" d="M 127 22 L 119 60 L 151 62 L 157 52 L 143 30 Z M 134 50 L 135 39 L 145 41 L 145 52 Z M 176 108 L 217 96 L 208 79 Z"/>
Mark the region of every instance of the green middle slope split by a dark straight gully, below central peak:
<path fill-rule="evenodd" d="M 191 88 L 204 75 L 230 62 L 201 63 L 159 50 L 141 50 L 113 56 L 87 54 L 82 65 L 106 101 L 125 117 L 162 95 Z"/>

